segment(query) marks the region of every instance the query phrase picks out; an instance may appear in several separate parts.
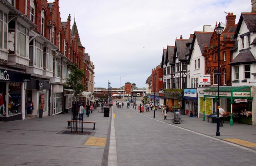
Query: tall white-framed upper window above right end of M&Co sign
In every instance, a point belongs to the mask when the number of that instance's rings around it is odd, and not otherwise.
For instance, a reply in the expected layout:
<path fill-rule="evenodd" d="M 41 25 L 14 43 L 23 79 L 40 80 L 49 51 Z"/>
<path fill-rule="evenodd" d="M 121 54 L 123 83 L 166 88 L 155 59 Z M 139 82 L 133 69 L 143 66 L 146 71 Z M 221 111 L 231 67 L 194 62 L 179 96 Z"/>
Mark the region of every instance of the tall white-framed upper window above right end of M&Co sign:
<path fill-rule="evenodd" d="M 17 23 L 17 54 L 22 57 L 28 57 L 29 49 L 29 31 L 19 22 Z"/>

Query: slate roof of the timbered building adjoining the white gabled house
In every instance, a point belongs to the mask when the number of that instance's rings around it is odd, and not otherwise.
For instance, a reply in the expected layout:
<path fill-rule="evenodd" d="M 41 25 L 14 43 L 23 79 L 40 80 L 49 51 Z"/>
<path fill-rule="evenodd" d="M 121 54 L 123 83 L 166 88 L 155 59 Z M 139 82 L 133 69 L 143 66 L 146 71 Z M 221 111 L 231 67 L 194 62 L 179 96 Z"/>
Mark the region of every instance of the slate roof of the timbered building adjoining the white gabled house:
<path fill-rule="evenodd" d="M 186 57 L 185 57 L 187 53 L 186 43 L 188 43 L 188 39 L 176 39 L 175 41 L 175 51 L 178 52 L 179 60 L 186 60 Z"/>

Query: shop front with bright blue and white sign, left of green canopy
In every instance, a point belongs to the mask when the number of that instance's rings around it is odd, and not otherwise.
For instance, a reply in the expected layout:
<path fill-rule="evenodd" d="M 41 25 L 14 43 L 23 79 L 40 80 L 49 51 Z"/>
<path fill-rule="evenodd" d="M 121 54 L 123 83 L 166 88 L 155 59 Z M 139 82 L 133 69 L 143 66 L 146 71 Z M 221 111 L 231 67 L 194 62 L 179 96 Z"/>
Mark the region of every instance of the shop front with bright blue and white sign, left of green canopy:
<path fill-rule="evenodd" d="M 185 114 L 198 116 L 198 98 L 196 88 L 184 89 Z"/>

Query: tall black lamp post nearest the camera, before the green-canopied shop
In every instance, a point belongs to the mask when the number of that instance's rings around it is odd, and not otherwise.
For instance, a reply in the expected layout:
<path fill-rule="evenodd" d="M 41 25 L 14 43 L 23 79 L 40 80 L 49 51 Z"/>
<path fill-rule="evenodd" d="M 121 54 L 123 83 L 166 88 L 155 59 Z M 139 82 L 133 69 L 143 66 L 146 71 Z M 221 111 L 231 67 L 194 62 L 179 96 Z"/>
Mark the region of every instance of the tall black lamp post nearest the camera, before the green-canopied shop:
<path fill-rule="evenodd" d="M 219 116 L 219 108 L 220 108 L 220 35 L 223 31 L 224 27 L 220 26 L 220 22 L 218 26 L 214 29 L 216 34 L 218 35 L 218 96 L 217 96 L 217 130 L 216 136 L 220 136 L 220 116 Z"/>

